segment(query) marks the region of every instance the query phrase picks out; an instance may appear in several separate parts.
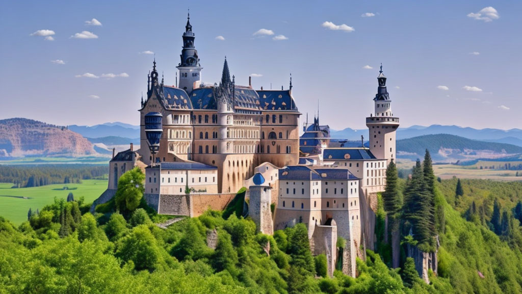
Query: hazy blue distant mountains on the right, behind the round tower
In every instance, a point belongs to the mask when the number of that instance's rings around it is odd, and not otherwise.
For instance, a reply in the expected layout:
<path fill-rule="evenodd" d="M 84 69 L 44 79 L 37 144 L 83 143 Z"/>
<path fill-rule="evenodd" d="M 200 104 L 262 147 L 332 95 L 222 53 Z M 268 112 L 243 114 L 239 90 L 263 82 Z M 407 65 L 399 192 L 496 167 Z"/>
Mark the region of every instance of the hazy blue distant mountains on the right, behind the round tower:
<path fill-rule="evenodd" d="M 419 137 L 421 135 L 428 134 L 451 134 L 459 137 L 464 137 L 472 140 L 489 141 L 496 143 L 508 143 L 517 146 L 522 146 L 522 130 L 511 129 L 511 130 L 500 130 L 500 129 L 473 129 L 473 128 L 462 128 L 458 126 L 441 126 L 432 125 L 429 127 L 424 126 L 411 126 L 408 128 L 397 129 L 397 140 L 408 139 L 413 137 Z M 331 138 L 333 139 L 347 139 L 360 141 L 361 135 L 366 137 L 368 135 L 367 129 L 354 130 L 346 128 L 340 131 L 330 130 Z"/>

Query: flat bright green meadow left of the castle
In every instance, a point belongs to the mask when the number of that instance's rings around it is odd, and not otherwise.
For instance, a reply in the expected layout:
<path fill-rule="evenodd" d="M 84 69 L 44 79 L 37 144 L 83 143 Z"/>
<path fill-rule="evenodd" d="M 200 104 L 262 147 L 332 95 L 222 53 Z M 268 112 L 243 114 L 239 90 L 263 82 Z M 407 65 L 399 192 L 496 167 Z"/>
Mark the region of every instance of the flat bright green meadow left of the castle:
<path fill-rule="evenodd" d="M 72 192 L 75 199 L 84 197 L 87 203 L 98 198 L 107 188 L 107 180 L 86 179 L 81 184 L 56 184 L 33 188 L 11 189 L 13 184 L 0 183 L 0 216 L 20 224 L 27 220 L 27 211 L 42 209 L 45 205 L 52 203 L 54 197 L 67 198 Z M 55 190 L 67 186 L 76 188 L 74 190 Z M 13 197 L 15 196 L 15 197 Z M 26 198 L 20 198 L 26 197 Z"/>

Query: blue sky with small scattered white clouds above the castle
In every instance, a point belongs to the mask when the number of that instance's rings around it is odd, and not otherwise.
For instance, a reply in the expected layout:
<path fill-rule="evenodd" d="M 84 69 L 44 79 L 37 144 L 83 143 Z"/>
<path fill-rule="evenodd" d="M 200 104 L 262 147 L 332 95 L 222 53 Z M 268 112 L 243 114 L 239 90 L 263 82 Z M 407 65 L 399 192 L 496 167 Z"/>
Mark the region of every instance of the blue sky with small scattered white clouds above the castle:
<path fill-rule="evenodd" d="M 291 72 L 301 121 L 319 101 L 321 123 L 364 128 L 382 62 L 401 127 L 522 128 L 519 1 L 3 1 L 0 119 L 137 125 L 143 52 L 174 84 L 187 8 L 204 82 L 225 55 L 237 84 Z"/>

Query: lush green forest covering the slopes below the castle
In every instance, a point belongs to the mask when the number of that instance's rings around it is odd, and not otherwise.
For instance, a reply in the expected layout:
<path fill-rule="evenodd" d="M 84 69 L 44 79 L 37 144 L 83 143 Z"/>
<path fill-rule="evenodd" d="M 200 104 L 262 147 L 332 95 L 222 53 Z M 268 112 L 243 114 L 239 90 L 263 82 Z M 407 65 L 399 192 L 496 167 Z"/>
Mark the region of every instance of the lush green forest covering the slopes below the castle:
<path fill-rule="evenodd" d="M 165 216 L 145 205 L 144 175 L 134 169 L 122 176 L 114 201 L 94 215 L 89 203 L 68 199 L 29 213 L 19 227 L 0 218 L 0 293 L 522 292 L 522 183 L 438 182 L 426 158 L 411 180 L 388 168 L 376 251 L 357 259 L 357 278 L 339 270 L 326 275 L 326 257 L 311 255 L 304 224 L 264 235 L 230 209 L 161 229 L 155 223 Z M 405 231 L 403 246 L 438 250 L 438 275 L 430 271 L 429 285 L 411 258 L 390 268 L 386 217 Z"/>

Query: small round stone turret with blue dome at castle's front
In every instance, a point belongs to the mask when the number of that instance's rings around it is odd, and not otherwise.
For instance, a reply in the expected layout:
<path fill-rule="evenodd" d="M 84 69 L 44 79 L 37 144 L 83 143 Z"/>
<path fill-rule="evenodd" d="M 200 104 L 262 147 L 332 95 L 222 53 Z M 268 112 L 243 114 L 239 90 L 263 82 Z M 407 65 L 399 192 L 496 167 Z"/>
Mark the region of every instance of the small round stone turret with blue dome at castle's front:
<path fill-rule="evenodd" d="M 269 186 L 262 186 L 265 178 L 260 173 L 253 177 L 254 186 L 250 186 L 250 201 L 248 202 L 248 216 L 256 223 L 256 230 L 263 234 L 274 234 L 274 222 L 272 221 L 272 211 L 270 210 L 272 189 Z"/>

